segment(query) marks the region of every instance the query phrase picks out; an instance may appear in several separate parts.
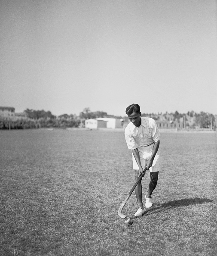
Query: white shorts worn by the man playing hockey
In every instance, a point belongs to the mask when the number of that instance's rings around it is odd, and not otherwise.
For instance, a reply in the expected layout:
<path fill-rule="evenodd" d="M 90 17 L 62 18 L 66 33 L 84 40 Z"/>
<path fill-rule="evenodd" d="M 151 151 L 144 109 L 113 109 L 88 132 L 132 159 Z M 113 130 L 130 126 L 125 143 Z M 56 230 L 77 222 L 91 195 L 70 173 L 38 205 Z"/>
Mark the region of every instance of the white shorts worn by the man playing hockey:
<path fill-rule="evenodd" d="M 140 156 L 140 162 L 142 165 L 142 168 L 145 168 L 145 165 L 148 161 L 148 159 L 150 159 L 150 156 L 152 155 L 152 151 L 153 151 L 153 147 L 154 147 L 154 143 L 146 146 L 146 147 L 141 147 L 138 146 L 138 151 L 139 151 L 139 156 Z M 138 170 L 139 166 L 136 162 L 136 159 L 134 158 L 134 155 L 132 155 L 132 159 L 133 159 L 133 170 Z M 153 164 L 152 167 L 149 168 L 150 172 L 159 172 L 160 171 L 160 162 L 161 162 L 161 157 L 160 157 L 160 150 L 158 149 L 155 158 L 153 160 Z"/>

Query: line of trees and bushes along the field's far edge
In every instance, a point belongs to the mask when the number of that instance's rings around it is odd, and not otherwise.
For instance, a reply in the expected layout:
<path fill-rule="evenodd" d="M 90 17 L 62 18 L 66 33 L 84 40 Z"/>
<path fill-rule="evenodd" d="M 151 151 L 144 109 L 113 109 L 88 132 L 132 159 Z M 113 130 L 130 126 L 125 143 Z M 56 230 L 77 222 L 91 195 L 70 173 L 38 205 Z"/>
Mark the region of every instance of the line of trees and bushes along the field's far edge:
<path fill-rule="evenodd" d="M 189 111 L 181 114 L 177 111 L 174 113 L 143 113 L 142 116 L 152 117 L 156 121 L 177 121 L 183 122 L 185 118 L 189 128 L 216 128 L 215 116 L 209 113 Z M 127 117 L 108 115 L 107 112 L 92 112 L 89 108 L 83 109 L 79 116 L 73 114 L 63 114 L 55 116 L 50 111 L 25 109 L 23 113 L 13 117 L 0 116 L 0 129 L 29 129 L 29 128 L 77 128 L 84 127 L 86 119 L 95 118 L 116 118 L 124 119 L 128 122 Z"/>

